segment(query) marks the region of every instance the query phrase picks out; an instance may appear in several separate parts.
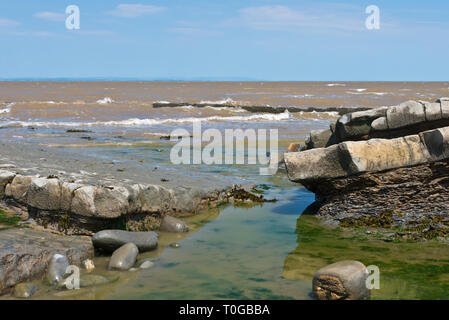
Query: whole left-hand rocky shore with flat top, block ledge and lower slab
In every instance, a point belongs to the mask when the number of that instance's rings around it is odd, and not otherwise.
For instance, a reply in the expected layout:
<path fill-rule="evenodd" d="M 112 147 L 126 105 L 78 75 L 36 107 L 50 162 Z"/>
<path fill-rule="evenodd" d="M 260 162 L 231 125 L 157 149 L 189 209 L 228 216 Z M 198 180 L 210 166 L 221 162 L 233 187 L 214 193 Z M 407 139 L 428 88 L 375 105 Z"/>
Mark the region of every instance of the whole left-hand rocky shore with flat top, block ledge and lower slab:
<path fill-rule="evenodd" d="M 151 172 L 147 179 L 132 163 L 127 165 L 127 172 L 115 171 L 98 160 L 70 159 L 70 155 L 44 147 L 8 145 L 2 156 L 0 213 L 20 221 L 6 228 L 0 224 L 0 294 L 13 292 L 19 283 L 43 279 L 55 254 L 81 266 L 95 252 L 107 253 L 91 238 L 97 232 L 151 236 L 148 246 L 155 250 L 158 240 L 154 231 L 188 231 L 172 216 L 192 215 L 224 204 L 266 201 L 253 192 L 255 186 L 250 183 L 237 185 L 226 179 L 214 183 L 209 177 L 205 184 L 201 176 L 201 181 L 181 177 L 156 184 L 166 174 L 162 169 Z M 30 166 L 36 163 L 42 166 Z M 139 251 L 146 251 L 136 245 Z M 35 289 L 24 285 L 21 291 L 27 288 Z"/>

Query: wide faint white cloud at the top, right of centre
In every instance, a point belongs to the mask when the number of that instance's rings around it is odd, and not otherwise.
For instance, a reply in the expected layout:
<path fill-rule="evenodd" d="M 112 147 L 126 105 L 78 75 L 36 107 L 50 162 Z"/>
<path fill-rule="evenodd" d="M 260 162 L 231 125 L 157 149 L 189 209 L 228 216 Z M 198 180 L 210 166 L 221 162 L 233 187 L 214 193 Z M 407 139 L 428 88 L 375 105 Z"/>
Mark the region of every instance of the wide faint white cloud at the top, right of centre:
<path fill-rule="evenodd" d="M 293 9 L 287 6 L 248 7 L 239 10 L 237 19 L 228 26 L 240 24 L 257 30 L 299 31 L 304 29 L 362 30 L 363 11 L 347 6 L 334 6 L 327 12 L 318 8 Z"/>

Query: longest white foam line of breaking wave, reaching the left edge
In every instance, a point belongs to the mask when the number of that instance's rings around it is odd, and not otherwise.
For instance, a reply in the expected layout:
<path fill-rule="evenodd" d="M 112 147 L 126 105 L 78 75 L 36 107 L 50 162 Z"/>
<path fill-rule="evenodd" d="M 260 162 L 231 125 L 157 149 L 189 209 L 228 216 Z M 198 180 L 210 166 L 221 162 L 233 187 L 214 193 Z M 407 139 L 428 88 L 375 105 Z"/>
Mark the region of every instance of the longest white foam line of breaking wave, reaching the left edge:
<path fill-rule="evenodd" d="M 95 121 L 95 122 L 46 122 L 46 121 L 10 121 L 0 127 L 91 127 L 91 126 L 113 126 L 113 127 L 136 127 L 136 126 L 152 126 L 170 123 L 188 123 L 188 122 L 220 122 L 220 121 L 282 121 L 290 120 L 294 117 L 285 110 L 284 113 L 272 114 L 272 113 L 262 113 L 253 114 L 250 116 L 211 116 L 204 118 L 178 118 L 178 119 L 138 119 L 132 118 L 127 120 L 117 120 L 117 121 Z"/>

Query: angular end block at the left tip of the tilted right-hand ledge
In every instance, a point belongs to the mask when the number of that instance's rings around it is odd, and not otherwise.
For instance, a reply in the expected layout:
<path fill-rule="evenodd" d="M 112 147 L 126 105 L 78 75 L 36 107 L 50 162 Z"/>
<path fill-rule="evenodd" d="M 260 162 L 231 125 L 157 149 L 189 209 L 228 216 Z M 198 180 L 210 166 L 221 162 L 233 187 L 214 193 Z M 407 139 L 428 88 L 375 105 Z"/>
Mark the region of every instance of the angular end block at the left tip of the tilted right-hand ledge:
<path fill-rule="evenodd" d="M 340 165 L 338 145 L 284 154 L 285 167 L 291 181 L 319 180 L 346 176 Z"/>

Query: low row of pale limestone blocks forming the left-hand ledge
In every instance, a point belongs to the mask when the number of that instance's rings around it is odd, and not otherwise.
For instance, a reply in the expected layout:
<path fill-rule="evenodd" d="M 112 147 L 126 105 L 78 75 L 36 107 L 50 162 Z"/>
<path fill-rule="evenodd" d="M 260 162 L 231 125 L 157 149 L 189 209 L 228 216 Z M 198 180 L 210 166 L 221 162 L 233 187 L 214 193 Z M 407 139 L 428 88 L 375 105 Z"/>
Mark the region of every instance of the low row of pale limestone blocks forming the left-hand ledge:
<path fill-rule="evenodd" d="M 22 207 L 38 224 L 66 234 L 91 235 L 124 224 L 133 231 L 146 231 L 157 227 L 152 216 L 195 213 L 245 194 L 255 197 L 248 189 L 88 185 L 0 170 L 0 200 Z"/>

